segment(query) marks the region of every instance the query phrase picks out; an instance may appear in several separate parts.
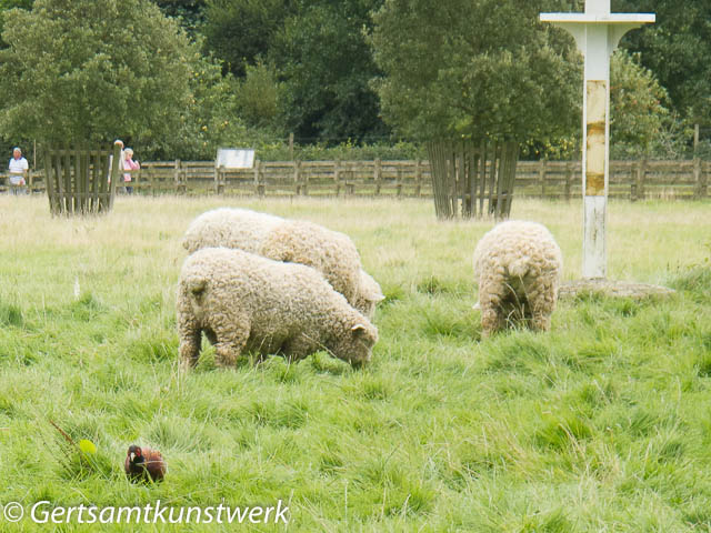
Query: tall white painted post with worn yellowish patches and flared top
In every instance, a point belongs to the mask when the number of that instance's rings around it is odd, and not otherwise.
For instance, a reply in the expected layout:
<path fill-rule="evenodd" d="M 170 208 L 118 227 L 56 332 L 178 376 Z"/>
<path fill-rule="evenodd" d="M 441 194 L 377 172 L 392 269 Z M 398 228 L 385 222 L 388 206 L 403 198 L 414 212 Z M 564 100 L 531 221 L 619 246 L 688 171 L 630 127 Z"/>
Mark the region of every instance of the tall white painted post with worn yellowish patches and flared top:
<path fill-rule="evenodd" d="M 585 58 L 582 105 L 582 276 L 607 274 L 605 221 L 610 174 L 610 56 L 628 31 L 653 13 L 610 13 L 610 0 L 585 0 L 584 13 L 541 13 L 568 30 Z"/>

